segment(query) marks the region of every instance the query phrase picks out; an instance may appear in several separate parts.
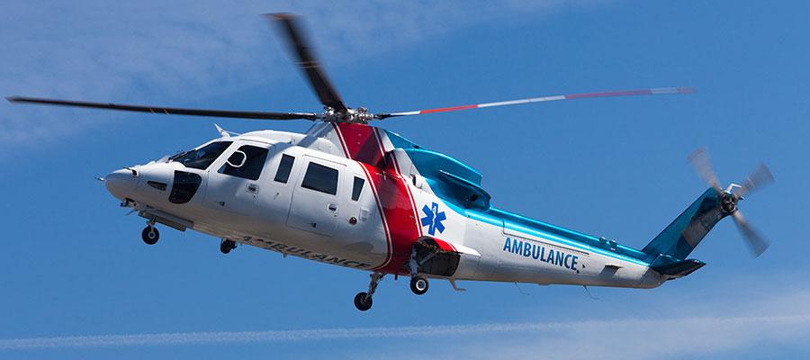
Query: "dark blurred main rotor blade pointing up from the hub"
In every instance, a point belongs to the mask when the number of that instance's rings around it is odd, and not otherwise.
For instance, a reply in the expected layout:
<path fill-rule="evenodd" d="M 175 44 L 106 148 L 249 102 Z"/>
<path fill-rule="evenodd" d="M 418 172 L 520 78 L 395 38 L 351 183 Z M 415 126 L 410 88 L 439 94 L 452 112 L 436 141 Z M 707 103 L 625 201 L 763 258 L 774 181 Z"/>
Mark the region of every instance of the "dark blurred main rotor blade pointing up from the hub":
<path fill-rule="evenodd" d="M 298 67 L 301 67 L 303 73 L 309 77 L 310 85 L 318 95 L 320 103 L 337 110 L 344 112 L 347 110 L 343 100 L 340 100 L 340 95 L 329 78 L 323 67 L 320 66 L 318 58 L 315 58 L 314 48 L 311 47 L 311 41 L 308 40 L 302 31 L 301 21 L 298 15 L 294 14 L 267 14 L 267 18 L 278 23 L 284 31 L 284 37 L 287 40 L 290 49 L 298 57 Z"/>

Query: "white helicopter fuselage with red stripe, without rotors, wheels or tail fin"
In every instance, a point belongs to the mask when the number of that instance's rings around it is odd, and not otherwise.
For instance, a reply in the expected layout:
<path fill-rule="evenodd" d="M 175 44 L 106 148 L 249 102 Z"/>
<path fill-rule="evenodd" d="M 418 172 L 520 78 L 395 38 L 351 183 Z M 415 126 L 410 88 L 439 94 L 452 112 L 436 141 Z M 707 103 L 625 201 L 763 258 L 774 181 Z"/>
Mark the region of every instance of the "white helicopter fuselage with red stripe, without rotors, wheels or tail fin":
<path fill-rule="evenodd" d="M 413 259 L 419 275 L 453 281 L 650 288 L 666 280 L 615 243 L 592 247 L 570 230 L 454 205 L 434 189 L 446 184 L 420 174 L 411 161 L 419 155 L 396 148 L 387 131 L 347 125 L 222 137 L 200 147 L 224 148 L 204 168 L 162 159 L 105 182 L 149 220 L 330 265 L 412 275 Z"/>

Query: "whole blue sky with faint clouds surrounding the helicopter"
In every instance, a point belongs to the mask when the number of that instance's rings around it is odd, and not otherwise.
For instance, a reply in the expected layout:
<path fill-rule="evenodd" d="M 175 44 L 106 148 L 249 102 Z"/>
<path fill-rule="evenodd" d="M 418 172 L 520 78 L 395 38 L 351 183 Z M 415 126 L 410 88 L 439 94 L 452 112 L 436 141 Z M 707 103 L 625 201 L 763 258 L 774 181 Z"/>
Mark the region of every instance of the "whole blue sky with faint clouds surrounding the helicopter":
<path fill-rule="evenodd" d="M 479 169 L 496 206 L 634 247 L 705 190 L 685 161 L 694 149 L 707 146 L 724 184 L 764 161 L 777 183 L 741 207 L 772 246 L 752 259 L 725 220 L 692 255 L 708 265 L 658 289 L 591 288 L 595 300 L 581 287 L 434 282 L 416 297 L 389 278 L 360 313 L 365 273 L 257 248 L 223 256 L 193 232 L 148 247 L 143 221 L 94 181 L 215 137 L 211 119 L 0 103 L 0 358 L 810 353 L 810 4 L 10 1 L 0 94 L 317 111 L 258 16 L 276 11 L 307 16 L 346 102 L 373 111 L 696 86 L 380 125 Z M 120 337 L 92 338 L 106 336 Z"/>

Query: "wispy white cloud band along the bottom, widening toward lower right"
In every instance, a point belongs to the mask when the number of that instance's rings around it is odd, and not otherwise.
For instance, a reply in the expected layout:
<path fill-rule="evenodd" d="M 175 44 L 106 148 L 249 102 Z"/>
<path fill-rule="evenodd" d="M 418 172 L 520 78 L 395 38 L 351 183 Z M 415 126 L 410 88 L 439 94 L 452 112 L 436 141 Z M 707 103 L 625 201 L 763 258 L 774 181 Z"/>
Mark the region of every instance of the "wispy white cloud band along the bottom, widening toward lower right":
<path fill-rule="evenodd" d="M 331 328 L 273 331 L 214 331 L 121 334 L 58 338 L 0 339 L 0 351 L 102 347 L 170 347 L 214 344 L 281 344 L 374 340 L 389 344 L 375 353 L 384 358 L 412 358 L 402 339 L 441 338 L 431 354 L 440 358 L 523 358 L 564 350 L 571 359 L 671 359 L 744 353 L 758 347 L 789 346 L 810 351 L 810 292 L 796 290 L 755 298 L 712 303 L 695 300 L 690 315 L 662 309 L 641 318 L 480 323 L 383 328 Z M 655 314 L 651 316 L 649 314 Z M 410 344 L 411 342 L 406 342 Z M 429 342 L 426 342 L 426 347 Z M 354 349 L 354 348 L 353 348 Z M 350 351 L 367 351 L 354 349 Z M 362 356 L 364 353 L 358 353 Z M 560 354 L 557 354 L 560 356 Z"/>

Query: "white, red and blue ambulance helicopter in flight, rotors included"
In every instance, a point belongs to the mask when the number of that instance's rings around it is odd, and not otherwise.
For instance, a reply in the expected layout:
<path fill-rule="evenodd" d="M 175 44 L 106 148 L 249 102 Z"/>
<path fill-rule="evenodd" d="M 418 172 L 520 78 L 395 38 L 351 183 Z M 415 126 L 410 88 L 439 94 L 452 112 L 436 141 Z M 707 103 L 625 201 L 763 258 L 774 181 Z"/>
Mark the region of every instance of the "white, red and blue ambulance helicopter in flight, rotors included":
<path fill-rule="evenodd" d="M 266 14 L 284 35 L 323 112 L 246 112 L 13 96 L 11 103 L 250 120 L 308 120 L 305 133 L 257 130 L 231 133 L 174 156 L 126 166 L 100 177 L 121 207 L 146 220 L 141 239 L 157 243 L 158 224 L 220 238 L 220 251 L 260 247 L 370 273 L 354 304 L 371 309 L 386 275 L 410 277 L 412 293 L 429 282 L 572 284 L 654 288 L 706 263 L 689 258 L 720 220 L 732 217 L 755 257 L 769 242 L 738 202 L 773 181 L 761 165 L 741 184 L 722 187 L 707 152 L 689 161 L 709 184 L 697 200 L 635 249 L 491 205 L 482 175 L 446 154 L 369 125 L 389 118 L 526 103 L 662 94 L 665 87 L 533 97 L 409 112 L 348 107 L 329 81 L 304 35 L 301 17 Z"/>

